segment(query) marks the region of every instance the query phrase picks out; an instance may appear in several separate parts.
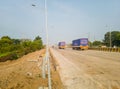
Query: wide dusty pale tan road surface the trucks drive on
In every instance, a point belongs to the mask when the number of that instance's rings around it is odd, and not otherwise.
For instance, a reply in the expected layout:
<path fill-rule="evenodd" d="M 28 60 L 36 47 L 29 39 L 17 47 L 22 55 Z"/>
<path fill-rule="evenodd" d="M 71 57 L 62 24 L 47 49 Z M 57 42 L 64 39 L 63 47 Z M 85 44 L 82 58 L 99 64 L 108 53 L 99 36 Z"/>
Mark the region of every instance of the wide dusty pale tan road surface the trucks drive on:
<path fill-rule="evenodd" d="M 120 89 L 120 53 L 52 49 L 67 89 Z"/>

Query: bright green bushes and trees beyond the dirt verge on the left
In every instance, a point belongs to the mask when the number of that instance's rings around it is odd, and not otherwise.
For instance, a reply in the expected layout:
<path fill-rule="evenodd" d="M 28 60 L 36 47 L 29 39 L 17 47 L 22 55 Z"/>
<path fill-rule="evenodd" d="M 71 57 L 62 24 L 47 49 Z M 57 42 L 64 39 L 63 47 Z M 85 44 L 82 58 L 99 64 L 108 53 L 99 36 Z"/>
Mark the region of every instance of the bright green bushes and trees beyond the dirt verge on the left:
<path fill-rule="evenodd" d="M 14 60 L 30 52 L 43 48 L 41 37 L 30 39 L 12 39 L 9 36 L 0 38 L 0 61 Z"/>

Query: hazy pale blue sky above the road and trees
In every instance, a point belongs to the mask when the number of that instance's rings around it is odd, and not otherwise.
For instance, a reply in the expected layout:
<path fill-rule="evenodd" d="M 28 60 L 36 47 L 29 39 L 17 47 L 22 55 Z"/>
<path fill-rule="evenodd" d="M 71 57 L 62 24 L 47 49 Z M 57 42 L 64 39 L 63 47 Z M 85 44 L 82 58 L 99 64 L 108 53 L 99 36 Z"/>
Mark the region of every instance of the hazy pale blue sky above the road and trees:
<path fill-rule="evenodd" d="M 0 37 L 34 39 L 46 43 L 45 0 L 0 0 Z M 35 4 L 35 7 L 32 6 Z M 49 44 L 78 38 L 104 39 L 120 31 L 120 0 L 47 0 Z"/>

